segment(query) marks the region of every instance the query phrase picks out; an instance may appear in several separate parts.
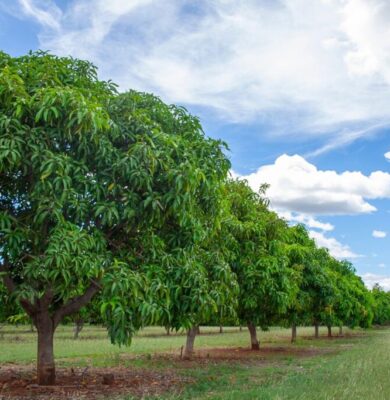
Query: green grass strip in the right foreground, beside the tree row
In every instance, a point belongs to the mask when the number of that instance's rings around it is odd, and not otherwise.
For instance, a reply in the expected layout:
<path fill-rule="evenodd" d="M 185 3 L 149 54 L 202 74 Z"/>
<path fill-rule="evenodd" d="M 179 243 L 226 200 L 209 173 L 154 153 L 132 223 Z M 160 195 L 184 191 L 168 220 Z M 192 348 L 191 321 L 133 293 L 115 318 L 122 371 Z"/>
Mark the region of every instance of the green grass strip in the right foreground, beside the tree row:
<path fill-rule="evenodd" d="M 286 357 L 268 366 L 224 365 L 193 371 L 198 383 L 180 399 L 390 399 L 390 330 L 330 341 L 327 347 L 334 352 Z"/>

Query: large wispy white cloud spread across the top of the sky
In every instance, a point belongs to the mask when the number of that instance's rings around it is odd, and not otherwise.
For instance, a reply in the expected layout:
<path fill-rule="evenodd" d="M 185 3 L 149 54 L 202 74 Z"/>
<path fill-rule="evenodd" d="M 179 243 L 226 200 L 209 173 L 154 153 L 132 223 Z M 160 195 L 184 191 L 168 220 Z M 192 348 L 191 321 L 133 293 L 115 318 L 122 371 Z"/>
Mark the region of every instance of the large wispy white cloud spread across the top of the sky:
<path fill-rule="evenodd" d="M 271 134 L 334 135 L 321 152 L 390 117 L 383 0 L 73 0 L 60 14 L 54 1 L 19 4 L 41 22 L 41 47 L 92 60 L 122 89 L 266 120 Z"/>

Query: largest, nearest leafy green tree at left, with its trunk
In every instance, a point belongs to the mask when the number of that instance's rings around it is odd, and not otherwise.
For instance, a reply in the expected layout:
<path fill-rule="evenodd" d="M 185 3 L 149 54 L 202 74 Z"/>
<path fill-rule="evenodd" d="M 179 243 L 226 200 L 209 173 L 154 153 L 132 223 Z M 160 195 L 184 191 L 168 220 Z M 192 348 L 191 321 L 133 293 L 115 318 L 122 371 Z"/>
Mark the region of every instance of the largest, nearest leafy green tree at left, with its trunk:
<path fill-rule="evenodd" d="M 0 272 L 38 330 L 40 384 L 55 382 L 56 327 L 97 292 L 113 342 L 144 324 L 137 261 L 202 236 L 222 147 L 183 108 L 118 94 L 88 62 L 0 53 Z"/>

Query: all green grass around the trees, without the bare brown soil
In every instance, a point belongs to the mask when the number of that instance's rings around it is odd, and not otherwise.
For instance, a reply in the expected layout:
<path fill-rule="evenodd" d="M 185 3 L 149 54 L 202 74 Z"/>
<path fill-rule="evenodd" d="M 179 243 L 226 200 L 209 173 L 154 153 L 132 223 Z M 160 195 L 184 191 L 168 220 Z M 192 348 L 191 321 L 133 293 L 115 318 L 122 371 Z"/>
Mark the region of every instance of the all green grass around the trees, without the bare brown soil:
<path fill-rule="evenodd" d="M 248 346 L 245 329 L 239 332 L 237 328 L 225 328 L 223 334 L 218 333 L 218 328 L 201 330 L 195 343 L 198 349 Z M 320 333 L 325 336 L 325 329 Z M 194 383 L 187 385 L 180 396 L 164 397 L 169 400 L 390 399 L 390 329 L 345 329 L 345 333 L 354 336 L 312 340 L 308 336 L 313 335 L 313 328 L 300 328 L 298 342 L 291 345 L 289 330 L 272 328 L 260 332 L 262 346 L 286 351 L 261 352 L 255 359 L 234 361 L 211 358 L 189 367 L 177 358 L 155 356 L 160 352 L 179 355 L 185 342 L 182 333 L 168 337 L 161 328 L 147 328 L 126 348 L 111 345 L 102 328 L 85 327 L 75 341 L 72 328 L 61 326 L 55 353 L 59 365 L 169 368 L 193 378 Z M 0 335 L 0 363 L 24 364 L 35 360 L 36 337 L 26 327 L 4 327 Z M 309 352 L 309 356 L 302 356 L 300 351 Z"/>

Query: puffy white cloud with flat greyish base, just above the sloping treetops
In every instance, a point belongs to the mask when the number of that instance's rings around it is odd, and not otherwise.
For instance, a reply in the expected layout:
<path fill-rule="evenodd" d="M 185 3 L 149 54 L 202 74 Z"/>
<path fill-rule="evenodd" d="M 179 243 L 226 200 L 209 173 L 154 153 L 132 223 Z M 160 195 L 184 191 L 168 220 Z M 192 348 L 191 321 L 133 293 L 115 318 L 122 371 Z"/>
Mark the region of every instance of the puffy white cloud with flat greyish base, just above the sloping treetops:
<path fill-rule="evenodd" d="M 390 198 L 390 174 L 319 170 L 299 155 L 282 155 L 274 164 L 242 176 L 254 190 L 269 183 L 274 209 L 306 215 L 361 214 L 376 211 L 369 200 Z"/>

